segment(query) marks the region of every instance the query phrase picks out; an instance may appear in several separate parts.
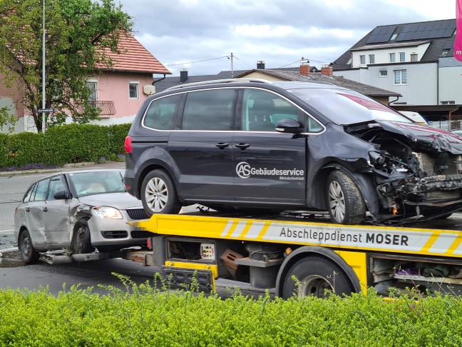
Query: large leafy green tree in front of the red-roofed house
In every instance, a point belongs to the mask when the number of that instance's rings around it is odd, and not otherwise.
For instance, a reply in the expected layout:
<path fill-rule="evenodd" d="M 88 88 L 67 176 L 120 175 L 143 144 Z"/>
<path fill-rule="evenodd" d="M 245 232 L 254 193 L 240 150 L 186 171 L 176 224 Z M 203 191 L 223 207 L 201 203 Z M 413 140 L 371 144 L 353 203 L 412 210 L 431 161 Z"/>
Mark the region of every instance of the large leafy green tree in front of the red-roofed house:
<path fill-rule="evenodd" d="M 41 129 L 43 0 L 0 0 L 0 72 L 4 84 L 19 84 L 22 103 Z M 46 1 L 46 109 L 55 113 L 46 124 L 88 123 L 99 109 L 92 104 L 86 81 L 98 68 L 110 68 L 105 51 L 118 51 L 120 34 L 131 33 L 133 21 L 113 0 Z M 67 114 L 66 114 L 67 112 Z"/>

